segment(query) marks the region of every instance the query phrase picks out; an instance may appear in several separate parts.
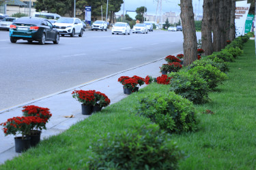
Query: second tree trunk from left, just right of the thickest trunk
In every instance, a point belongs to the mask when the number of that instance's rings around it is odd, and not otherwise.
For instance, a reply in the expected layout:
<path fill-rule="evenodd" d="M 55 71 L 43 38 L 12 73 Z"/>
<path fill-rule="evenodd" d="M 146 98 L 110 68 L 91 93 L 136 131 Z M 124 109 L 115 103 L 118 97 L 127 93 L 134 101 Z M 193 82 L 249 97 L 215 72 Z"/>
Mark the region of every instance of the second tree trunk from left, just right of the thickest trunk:
<path fill-rule="evenodd" d="M 212 54 L 212 0 L 203 1 L 202 48 L 205 56 Z"/>

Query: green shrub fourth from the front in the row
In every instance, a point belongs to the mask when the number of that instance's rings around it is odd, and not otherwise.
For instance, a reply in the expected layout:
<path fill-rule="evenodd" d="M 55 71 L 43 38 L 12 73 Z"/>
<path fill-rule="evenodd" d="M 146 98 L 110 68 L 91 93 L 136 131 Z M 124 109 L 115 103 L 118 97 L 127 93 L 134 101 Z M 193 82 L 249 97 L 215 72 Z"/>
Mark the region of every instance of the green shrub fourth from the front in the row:
<path fill-rule="evenodd" d="M 207 83 L 210 89 L 216 88 L 227 79 L 227 75 L 212 65 L 197 66 L 188 70 L 190 74 L 199 74 Z"/>

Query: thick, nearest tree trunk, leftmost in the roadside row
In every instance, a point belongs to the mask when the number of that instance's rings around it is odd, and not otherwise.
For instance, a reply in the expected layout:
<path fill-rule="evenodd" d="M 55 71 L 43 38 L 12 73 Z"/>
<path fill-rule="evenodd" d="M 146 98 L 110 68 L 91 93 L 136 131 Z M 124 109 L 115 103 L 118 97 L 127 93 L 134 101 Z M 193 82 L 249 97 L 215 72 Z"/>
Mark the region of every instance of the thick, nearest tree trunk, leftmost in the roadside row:
<path fill-rule="evenodd" d="M 190 65 L 197 60 L 197 35 L 195 34 L 195 19 L 192 0 L 180 0 L 182 32 L 184 36 L 184 65 Z"/>

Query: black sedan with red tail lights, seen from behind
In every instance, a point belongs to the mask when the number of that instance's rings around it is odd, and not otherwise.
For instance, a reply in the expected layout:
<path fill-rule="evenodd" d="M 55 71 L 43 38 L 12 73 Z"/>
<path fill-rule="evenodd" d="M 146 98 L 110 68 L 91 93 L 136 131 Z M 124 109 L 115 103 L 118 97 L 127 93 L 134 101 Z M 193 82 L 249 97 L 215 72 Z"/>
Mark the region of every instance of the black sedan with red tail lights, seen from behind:
<path fill-rule="evenodd" d="M 10 41 L 16 43 L 18 39 L 27 40 L 29 43 L 38 41 L 53 41 L 59 44 L 59 31 L 45 18 L 21 17 L 10 25 Z"/>

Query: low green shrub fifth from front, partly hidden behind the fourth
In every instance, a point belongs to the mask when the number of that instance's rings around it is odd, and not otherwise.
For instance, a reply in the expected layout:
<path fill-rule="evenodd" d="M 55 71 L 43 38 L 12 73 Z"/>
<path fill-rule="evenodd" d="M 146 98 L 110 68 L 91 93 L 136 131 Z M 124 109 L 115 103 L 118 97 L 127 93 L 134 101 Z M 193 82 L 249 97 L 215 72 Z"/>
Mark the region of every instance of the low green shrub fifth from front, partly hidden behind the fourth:
<path fill-rule="evenodd" d="M 197 67 L 199 65 L 200 66 L 212 65 L 213 67 L 218 68 L 219 70 L 221 70 L 224 73 L 229 71 L 229 68 L 227 67 L 227 63 L 224 63 L 224 61 L 221 58 L 216 58 L 217 61 L 218 61 L 218 59 L 219 59 L 219 62 L 211 60 L 210 58 L 207 58 L 205 60 L 196 60 L 186 68 L 187 68 L 187 70 L 189 70 L 189 69 L 192 69 L 192 68 Z M 223 61 L 223 62 L 221 62 L 221 61 Z"/>

